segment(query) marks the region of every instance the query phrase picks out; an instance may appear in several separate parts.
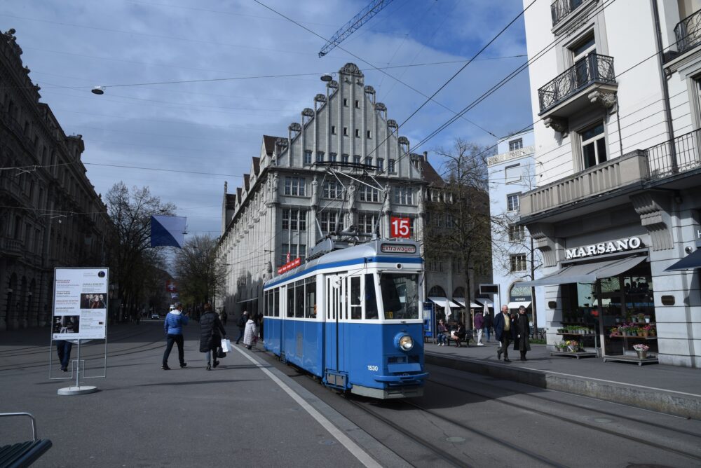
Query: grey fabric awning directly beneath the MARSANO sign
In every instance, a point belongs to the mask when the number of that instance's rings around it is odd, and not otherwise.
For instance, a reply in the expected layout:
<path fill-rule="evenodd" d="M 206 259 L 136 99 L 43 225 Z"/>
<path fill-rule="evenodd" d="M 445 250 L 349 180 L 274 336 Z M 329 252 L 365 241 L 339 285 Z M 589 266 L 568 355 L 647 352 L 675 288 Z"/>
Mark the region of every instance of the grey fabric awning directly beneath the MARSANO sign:
<path fill-rule="evenodd" d="M 620 275 L 647 259 L 647 256 L 629 256 L 625 259 L 575 263 L 560 268 L 555 273 L 538 278 L 538 280 L 522 281 L 517 284 L 519 286 L 547 286 L 550 284 L 593 283 L 601 278 Z"/>

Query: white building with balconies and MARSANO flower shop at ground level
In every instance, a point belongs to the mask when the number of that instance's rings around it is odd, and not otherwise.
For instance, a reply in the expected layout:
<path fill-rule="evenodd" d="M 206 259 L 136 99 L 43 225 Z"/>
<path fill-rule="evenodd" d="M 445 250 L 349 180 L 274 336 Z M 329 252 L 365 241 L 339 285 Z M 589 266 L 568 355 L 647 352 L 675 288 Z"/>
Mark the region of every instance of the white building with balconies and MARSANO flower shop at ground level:
<path fill-rule="evenodd" d="M 525 22 L 537 188 L 520 215 L 548 343 L 700 366 L 701 1 L 539 0 Z"/>

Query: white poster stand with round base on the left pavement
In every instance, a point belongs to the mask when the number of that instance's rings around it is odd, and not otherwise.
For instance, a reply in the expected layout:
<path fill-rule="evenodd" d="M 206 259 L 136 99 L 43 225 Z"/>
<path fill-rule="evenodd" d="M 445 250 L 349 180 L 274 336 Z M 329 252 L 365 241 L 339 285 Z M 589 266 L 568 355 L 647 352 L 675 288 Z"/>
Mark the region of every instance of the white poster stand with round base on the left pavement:
<path fill-rule="evenodd" d="M 57 394 L 79 395 L 97 392 L 95 385 L 81 385 L 81 380 L 88 378 L 104 378 L 107 376 L 107 287 L 109 284 L 108 268 L 55 268 L 54 269 L 54 301 L 51 320 L 51 340 L 49 346 L 49 379 L 72 380 L 75 385 L 60 388 Z M 104 340 L 102 352 L 102 375 L 86 375 L 86 359 L 83 345 L 93 340 Z M 61 347 L 55 342 L 68 342 L 67 347 Z M 57 344 L 57 346 L 54 346 Z M 63 353 L 73 351 L 76 345 L 76 359 L 67 359 L 61 363 L 61 370 L 68 371 L 67 377 L 53 376 L 54 349 Z M 100 359 L 90 356 L 90 359 Z M 66 364 L 64 366 L 64 364 Z"/>

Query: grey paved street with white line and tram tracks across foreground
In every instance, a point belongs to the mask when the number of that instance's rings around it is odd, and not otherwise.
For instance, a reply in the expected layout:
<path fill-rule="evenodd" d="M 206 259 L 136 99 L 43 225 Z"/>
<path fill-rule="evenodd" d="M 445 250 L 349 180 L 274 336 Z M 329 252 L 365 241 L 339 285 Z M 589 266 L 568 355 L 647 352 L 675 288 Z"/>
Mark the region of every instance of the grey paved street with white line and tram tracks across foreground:
<path fill-rule="evenodd" d="M 112 326 L 107 378 L 77 397 L 56 394 L 69 381 L 48 380 L 46 331 L 3 334 L 0 411 L 33 413 L 53 441 L 38 467 L 701 464 L 697 420 L 440 366 L 428 366 L 423 398 L 344 398 L 243 347 L 207 372 L 197 332 L 186 329 L 186 369 L 171 355 L 161 371 L 159 322 Z M 2 422 L 2 441 L 27 438 L 27 422 Z"/>

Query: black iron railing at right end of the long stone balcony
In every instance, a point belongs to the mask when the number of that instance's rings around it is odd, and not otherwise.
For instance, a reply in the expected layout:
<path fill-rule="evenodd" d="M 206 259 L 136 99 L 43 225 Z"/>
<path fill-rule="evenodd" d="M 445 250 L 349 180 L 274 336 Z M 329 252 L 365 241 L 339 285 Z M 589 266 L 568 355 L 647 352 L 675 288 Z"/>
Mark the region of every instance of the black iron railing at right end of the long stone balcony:
<path fill-rule="evenodd" d="M 694 130 L 645 150 L 651 179 L 661 179 L 701 167 L 701 130 Z"/>

